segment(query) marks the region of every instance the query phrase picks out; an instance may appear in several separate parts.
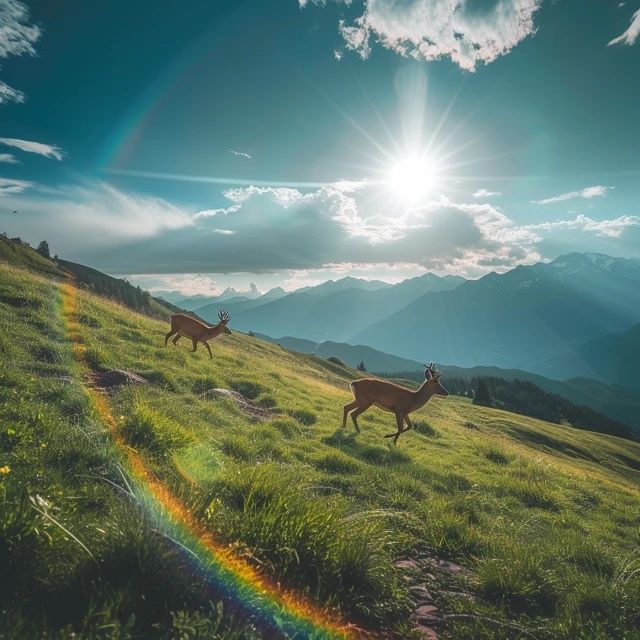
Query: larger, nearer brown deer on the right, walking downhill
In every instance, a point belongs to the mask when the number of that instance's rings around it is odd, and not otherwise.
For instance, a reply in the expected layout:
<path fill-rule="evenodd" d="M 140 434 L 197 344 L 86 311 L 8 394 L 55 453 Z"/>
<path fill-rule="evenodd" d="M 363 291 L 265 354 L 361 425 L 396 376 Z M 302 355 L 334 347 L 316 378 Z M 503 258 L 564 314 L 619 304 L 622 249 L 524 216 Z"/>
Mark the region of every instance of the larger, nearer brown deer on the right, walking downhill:
<path fill-rule="evenodd" d="M 356 418 L 369 407 L 375 406 L 395 414 L 398 430 L 395 433 L 387 434 L 385 438 L 393 438 L 393 444 L 396 444 L 400 434 L 413 427 L 411 420 L 409 420 L 410 413 L 427 404 L 431 396 L 449 395 L 449 392 L 440 384 L 442 373 L 436 371 L 434 363 L 424 366 L 425 381 L 417 391 L 376 378 L 354 380 L 351 383 L 351 391 L 355 400 L 344 406 L 342 428 L 347 426 L 347 416 L 351 413 L 353 426 L 360 433 Z M 405 423 L 407 424 L 406 429 L 403 428 Z"/>

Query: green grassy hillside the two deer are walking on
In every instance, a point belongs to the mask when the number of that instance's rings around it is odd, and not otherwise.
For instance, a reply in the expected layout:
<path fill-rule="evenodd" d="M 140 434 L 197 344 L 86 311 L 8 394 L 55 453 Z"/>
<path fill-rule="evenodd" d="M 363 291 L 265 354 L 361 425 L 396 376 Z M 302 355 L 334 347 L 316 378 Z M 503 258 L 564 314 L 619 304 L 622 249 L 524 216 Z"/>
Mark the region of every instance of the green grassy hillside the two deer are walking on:
<path fill-rule="evenodd" d="M 0 637 L 640 638 L 637 443 L 449 397 L 393 447 L 352 370 L 165 331 L 0 263 Z"/>

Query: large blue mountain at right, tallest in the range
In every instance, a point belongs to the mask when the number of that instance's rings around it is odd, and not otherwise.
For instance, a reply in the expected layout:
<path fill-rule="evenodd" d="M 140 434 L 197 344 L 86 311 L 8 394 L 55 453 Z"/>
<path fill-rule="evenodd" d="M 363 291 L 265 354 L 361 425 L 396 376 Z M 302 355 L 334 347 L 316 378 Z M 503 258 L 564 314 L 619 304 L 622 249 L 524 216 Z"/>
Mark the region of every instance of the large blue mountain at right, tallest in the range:
<path fill-rule="evenodd" d="M 559 353 L 640 322 L 640 261 L 572 253 L 427 293 L 348 342 L 541 374 Z M 564 374 L 582 375 L 584 366 Z"/>

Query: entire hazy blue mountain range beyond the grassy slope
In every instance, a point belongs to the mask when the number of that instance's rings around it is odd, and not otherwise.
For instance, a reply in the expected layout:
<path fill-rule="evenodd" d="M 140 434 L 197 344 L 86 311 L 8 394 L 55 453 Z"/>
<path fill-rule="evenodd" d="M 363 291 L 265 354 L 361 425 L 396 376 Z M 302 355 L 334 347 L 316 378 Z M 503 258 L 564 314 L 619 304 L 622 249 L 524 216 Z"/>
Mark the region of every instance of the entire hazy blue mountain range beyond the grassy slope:
<path fill-rule="evenodd" d="M 639 384 L 638 260 L 569 253 L 477 280 L 343 278 L 182 306 L 213 322 L 223 302 L 240 331 L 368 345 L 413 361 Z"/>

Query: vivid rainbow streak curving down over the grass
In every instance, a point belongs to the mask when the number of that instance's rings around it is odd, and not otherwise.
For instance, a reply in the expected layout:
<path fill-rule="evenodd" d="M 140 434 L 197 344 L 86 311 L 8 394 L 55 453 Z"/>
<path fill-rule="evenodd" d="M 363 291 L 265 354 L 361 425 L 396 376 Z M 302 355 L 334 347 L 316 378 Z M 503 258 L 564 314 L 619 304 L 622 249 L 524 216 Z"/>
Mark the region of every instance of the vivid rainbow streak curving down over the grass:
<path fill-rule="evenodd" d="M 73 281 L 64 282 L 62 314 L 78 365 L 85 369 L 86 345 L 78 322 L 78 296 Z M 346 624 L 305 597 L 286 590 L 262 575 L 253 565 L 237 556 L 215 534 L 197 520 L 182 501 L 150 470 L 144 458 L 123 440 L 106 394 L 95 387 L 86 391 L 102 423 L 126 460 L 136 495 L 158 528 L 189 553 L 197 569 L 221 594 L 255 620 L 289 638 L 329 640 L 365 637 L 365 633 Z"/>

